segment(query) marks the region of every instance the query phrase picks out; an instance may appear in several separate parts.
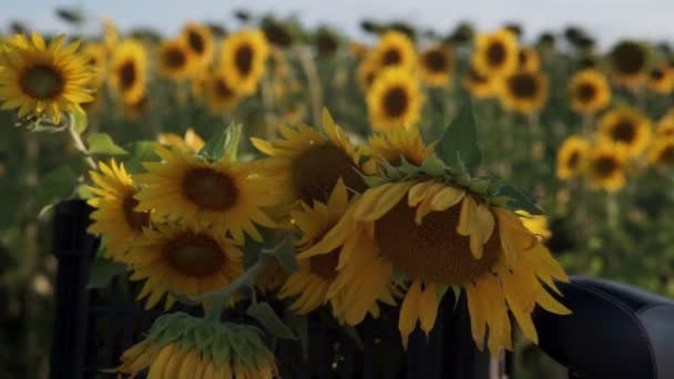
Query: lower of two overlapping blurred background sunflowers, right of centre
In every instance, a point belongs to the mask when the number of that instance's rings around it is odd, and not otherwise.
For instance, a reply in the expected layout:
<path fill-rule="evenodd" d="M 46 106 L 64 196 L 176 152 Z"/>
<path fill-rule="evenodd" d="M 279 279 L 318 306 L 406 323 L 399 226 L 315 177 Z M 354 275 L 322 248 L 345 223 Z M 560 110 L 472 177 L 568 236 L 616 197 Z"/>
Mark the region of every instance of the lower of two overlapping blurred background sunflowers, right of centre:
<path fill-rule="evenodd" d="M 519 70 L 497 82 L 503 106 L 521 113 L 539 111 L 548 100 L 548 76 L 540 71 Z"/>

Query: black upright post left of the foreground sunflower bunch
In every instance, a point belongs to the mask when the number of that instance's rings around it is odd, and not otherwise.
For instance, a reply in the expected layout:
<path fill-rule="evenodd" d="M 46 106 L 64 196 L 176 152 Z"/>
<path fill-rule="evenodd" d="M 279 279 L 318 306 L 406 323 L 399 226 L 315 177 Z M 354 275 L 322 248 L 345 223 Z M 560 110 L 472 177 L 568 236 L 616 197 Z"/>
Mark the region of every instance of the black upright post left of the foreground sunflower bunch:
<path fill-rule="evenodd" d="M 91 207 L 81 199 L 57 204 L 53 254 L 59 262 L 54 293 L 51 379 L 81 379 L 89 319 L 89 273 L 98 238 L 86 233 Z"/>

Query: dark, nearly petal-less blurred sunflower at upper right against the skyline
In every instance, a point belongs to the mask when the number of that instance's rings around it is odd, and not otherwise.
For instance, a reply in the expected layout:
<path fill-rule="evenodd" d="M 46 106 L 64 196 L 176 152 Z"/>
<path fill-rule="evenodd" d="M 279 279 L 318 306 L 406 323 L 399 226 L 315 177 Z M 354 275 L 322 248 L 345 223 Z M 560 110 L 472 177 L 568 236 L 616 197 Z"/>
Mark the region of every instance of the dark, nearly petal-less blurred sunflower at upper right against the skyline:
<path fill-rule="evenodd" d="M 646 78 L 649 51 L 639 42 L 622 41 L 615 44 L 609 53 L 613 80 L 621 85 L 634 89 Z"/>

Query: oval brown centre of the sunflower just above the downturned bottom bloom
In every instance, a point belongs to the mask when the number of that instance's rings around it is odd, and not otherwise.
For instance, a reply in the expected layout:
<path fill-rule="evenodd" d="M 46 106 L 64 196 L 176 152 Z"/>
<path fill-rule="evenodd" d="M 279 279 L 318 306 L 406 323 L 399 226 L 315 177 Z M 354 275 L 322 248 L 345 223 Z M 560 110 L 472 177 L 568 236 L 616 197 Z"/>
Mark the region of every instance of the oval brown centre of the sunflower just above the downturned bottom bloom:
<path fill-rule="evenodd" d="M 188 276 L 217 273 L 225 262 L 219 244 L 205 235 L 183 235 L 170 242 L 164 254 L 171 266 Z"/>

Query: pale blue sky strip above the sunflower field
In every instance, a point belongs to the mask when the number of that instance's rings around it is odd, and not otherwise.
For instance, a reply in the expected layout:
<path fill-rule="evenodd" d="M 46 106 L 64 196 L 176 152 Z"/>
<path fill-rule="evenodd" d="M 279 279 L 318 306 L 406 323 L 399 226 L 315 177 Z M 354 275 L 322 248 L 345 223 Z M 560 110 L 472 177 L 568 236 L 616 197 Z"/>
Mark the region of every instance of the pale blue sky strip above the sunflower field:
<path fill-rule="evenodd" d="M 80 4 L 91 16 L 112 18 L 122 29 L 149 25 L 165 34 L 175 33 L 186 19 L 231 23 L 232 10 L 244 7 L 256 13 L 296 13 L 309 25 L 327 23 L 351 34 L 359 32 L 362 17 L 375 16 L 382 20 L 404 18 L 442 32 L 463 19 L 481 29 L 519 21 L 529 38 L 574 22 L 604 45 L 623 37 L 674 39 L 674 0 L 3 0 L 2 4 L 3 29 L 17 19 L 38 30 L 60 32 L 69 29 L 53 17 L 53 10 Z M 93 23 L 88 27 L 94 28 Z"/>

